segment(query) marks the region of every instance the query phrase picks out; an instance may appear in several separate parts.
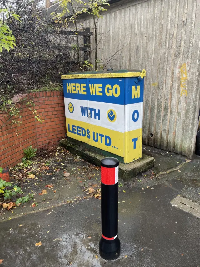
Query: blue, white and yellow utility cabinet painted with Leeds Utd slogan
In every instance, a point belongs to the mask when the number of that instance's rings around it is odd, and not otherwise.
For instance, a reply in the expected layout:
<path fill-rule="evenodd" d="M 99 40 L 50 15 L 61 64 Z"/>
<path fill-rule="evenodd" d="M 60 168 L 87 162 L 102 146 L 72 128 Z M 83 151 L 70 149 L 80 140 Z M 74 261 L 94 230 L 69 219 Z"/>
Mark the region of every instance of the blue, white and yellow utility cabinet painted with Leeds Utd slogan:
<path fill-rule="evenodd" d="M 69 140 L 124 163 L 141 158 L 145 74 L 143 69 L 62 75 Z"/>

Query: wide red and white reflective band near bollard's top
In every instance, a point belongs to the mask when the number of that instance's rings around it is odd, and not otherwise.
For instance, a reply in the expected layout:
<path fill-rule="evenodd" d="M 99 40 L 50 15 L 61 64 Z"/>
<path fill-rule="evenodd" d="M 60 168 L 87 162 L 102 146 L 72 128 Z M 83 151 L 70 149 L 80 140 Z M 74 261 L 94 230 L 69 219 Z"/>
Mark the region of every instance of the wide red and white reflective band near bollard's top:
<path fill-rule="evenodd" d="M 101 166 L 101 182 L 106 185 L 113 185 L 118 182 L 119 166 L 106 168 Z"/>

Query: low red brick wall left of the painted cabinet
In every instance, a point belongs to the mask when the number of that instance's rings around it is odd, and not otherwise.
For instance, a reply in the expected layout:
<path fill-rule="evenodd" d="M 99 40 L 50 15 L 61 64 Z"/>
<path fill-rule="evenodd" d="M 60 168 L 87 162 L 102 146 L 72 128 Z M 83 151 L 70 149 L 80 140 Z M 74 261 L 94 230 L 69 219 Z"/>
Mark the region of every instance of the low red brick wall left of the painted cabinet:
<path fill-rule="evenodd" d="M 35 92 L 29 96 L 44 122 L 36 121 L 32 111 L 23 106 L 20 114 L 22 124 L 16 127 L 12 121 L 8 121 L 3 126 L 0 130 L 0 167 L 12 167 L 20 162 L 24 157 L 23 150 L 28 146 L 52 146 L 66 133 L 63 92 Z M 3 118 L 0 114 L 0 120 L 7 121 L 8 117 Z"/>

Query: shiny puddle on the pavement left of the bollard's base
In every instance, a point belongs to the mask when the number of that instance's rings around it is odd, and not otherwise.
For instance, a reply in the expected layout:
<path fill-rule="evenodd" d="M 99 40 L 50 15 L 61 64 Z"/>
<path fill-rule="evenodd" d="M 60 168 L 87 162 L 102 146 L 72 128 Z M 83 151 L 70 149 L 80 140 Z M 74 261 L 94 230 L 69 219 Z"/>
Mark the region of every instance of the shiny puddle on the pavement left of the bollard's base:
<path fill-rule="evenodd" d="M 52 267 L 102 266 L 98 258 L 98 247 L 88 239 L 86 234 L 63 234 L 57 240 L 54 237 L 54 234 L 53 237 L 44 234 L 44 229 L 38 225 L 10 229 L 8 239 L 12 239 L 12 247 L 7 250 L 9 262 L 11 263 L 10 259 L 13 259 L 12 263 L 15 263 L 15 266 L 36 266 L 37 264 L 37 266 Z M 36 247 L 36 241 L 41 241 L 42 245 Z M 6 264 L 6 257 L 4 259 Z"/>

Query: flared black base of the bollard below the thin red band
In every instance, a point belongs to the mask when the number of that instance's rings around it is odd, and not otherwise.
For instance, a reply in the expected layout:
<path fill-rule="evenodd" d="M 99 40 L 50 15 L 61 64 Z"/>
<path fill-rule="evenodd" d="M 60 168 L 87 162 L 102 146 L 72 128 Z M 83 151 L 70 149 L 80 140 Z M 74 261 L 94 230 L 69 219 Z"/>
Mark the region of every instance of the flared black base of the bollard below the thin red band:
<path fill-rule="evenodd" d="M 117 259 L 120 255 L 120 240 L 118 237 L 114 240 L 106 240 L 101 237 L 99 242 L 99 254 L 105 260 Z"/>

